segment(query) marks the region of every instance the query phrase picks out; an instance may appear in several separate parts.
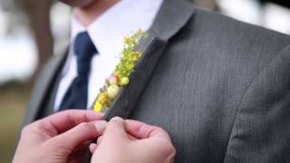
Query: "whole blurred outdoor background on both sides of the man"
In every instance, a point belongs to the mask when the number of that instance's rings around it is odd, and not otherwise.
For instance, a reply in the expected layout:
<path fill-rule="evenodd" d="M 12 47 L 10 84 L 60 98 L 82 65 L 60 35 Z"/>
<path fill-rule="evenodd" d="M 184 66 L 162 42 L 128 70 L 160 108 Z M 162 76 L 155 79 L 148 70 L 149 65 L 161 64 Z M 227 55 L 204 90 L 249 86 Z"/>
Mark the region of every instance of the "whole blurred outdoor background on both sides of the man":
<path fill-rule="evenodd" d="M 194 0 L 208 10 L 290 34 L 289 8 L 268 1 Z M 69 40 L 70 17 L 71 8 L 56 0 L 0 0 L 1 163 L 13 158 L 37 74 Z"/>

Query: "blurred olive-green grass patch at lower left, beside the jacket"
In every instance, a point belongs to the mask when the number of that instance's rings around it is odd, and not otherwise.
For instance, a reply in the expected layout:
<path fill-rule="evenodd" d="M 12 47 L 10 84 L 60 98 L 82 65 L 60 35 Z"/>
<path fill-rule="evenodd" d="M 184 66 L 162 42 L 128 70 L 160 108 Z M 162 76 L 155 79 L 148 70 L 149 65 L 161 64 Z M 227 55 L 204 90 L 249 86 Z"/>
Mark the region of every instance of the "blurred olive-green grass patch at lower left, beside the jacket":
<path fill-rule="evenodd" d="M 29 86 L 21 82 L 7 82 L 0 86 L 0 92 L 0 158 L 1 162 L 11 162 Z"/>

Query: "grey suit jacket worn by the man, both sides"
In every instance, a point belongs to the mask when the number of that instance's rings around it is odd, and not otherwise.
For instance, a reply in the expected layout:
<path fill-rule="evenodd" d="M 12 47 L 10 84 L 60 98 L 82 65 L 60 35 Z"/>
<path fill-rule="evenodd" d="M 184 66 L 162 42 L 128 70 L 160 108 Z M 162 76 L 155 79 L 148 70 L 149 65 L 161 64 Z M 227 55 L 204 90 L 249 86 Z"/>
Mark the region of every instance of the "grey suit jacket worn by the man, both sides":
<path fill-rule="evenodd" d="M 176 162 L 290 162 L 290 37 L 165 0 L 131 83 L 106 114 L 169 131 Z M 25 124 L 39 119 L 65 55 L 48 62 Z"/>

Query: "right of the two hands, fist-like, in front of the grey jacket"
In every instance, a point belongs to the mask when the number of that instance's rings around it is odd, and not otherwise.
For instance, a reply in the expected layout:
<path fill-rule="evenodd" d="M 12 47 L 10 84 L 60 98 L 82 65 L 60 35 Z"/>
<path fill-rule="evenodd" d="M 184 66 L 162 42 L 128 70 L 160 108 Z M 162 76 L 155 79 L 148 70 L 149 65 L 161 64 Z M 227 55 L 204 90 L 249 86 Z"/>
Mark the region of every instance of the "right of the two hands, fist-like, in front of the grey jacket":
<path fill-rule="evenodd" d="M 165 130 L 121 118 L 110 120 L 90 149 L 92 163 L 173 163 L 176 153 Z"/>

